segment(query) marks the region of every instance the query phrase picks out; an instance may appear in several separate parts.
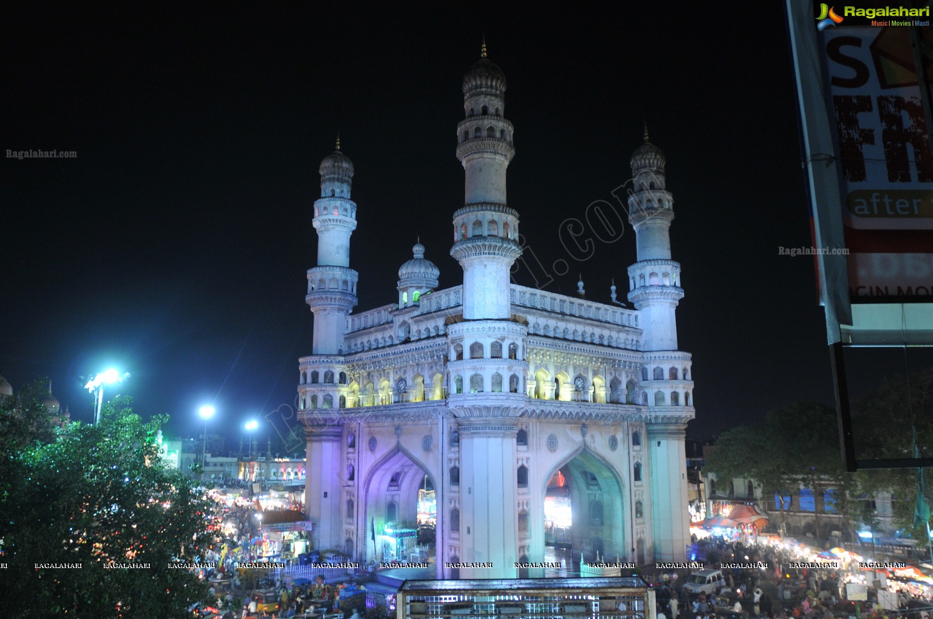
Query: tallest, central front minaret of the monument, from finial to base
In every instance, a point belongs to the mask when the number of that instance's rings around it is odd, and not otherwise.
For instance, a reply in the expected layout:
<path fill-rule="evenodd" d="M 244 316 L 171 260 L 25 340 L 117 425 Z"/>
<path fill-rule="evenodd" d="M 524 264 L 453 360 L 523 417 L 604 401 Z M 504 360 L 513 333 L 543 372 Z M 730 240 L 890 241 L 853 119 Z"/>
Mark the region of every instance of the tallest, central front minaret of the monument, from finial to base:
<path fill-rule="evenodd" d="M 464 320 L 447 331 L 448 403 L 460 433 L 460 458 L 474 465 L 461 468 L 459 486 L 444 497 L 448 514 L 458 510 L 459 530 L 446 533 L 443 543 L 445 560 L 493 564 L 493 570 L 461 569 L 461 578 L 509 578 L 517 575 L 522 546 L 515 442 L 528 329 L 512 321 L 509 295 L 509 271 L 522 248 L 519 214 L 506 203 L 506 171 L 515 155 L 512 124 L 504 116 L 506 76 L 486 57 L 485 42 L 464 76 L 463 92 L 456 154 L 466 192 L 463 208 L 453 213 L 451 255 L 464 269 Z"/>

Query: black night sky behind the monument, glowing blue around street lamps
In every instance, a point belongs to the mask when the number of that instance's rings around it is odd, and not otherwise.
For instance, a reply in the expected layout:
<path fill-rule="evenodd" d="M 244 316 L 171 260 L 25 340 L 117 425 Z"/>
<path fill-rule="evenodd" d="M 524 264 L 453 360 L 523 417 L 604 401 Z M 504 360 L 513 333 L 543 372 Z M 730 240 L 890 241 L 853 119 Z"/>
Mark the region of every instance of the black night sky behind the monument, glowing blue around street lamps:
<path fill-rule="evenodd" d="M 558 234 L 630 178 L 645 120 L 675 197 L 691 433 L 831 402 L 813 261 L 778 254 L 811 244 L 780 3 L 752 20 L 685 3 L 25 4 L 2 26 L 0 147 L 77 158 L 2 159 L 0 374 L 49 376 L 76 419 L 91 418 L 78 377 L 106 365 L 132 373 L 120 391 L 138 412 L 172 415 L 170 433 L 200 432 L 205 401 L 233 440 L 292 403 L 317 168 L 338 130 L 356 170 L 357 310 L 396 299 L 417 235 L 441 286 L 460 283 L 456 124 L 482 34 L 508 76 L 509 206 L 545 268 L 569 264 L 547 289 L 582 273 L 589 298 L 607 302 L 612 277 L 624 297 L 631 227 L 585 261 Z"/>

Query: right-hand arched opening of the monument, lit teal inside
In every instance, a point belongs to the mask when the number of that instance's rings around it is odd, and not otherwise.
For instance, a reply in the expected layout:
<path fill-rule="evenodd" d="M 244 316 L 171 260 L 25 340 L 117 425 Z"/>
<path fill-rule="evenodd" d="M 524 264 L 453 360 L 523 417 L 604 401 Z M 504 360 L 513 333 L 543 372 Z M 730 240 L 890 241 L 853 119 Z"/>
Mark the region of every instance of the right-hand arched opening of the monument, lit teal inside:
<path fill-rule="evenodd" d="M 547 555 L 569 550 L 574 561 L 627 557 L 624 492 L 612 465 L 581 448 L 555 467 L 545 489 Z"/>

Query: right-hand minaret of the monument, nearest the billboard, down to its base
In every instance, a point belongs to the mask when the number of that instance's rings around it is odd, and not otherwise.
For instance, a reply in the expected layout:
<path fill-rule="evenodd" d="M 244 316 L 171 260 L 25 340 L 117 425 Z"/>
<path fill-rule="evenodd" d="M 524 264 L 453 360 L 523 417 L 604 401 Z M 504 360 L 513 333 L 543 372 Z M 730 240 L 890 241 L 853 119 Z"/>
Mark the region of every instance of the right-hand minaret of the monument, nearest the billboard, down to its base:
<path fill-rule="evenodd" d="M 684 438 L 693 418 L 690 355 L 677 351 L 675 309 L 683 298 L 680 263 L 671 259 L 674 199 L 667 191 L 664 154 L 648 141 L 632 156 L 629 223 L 638 262 L 629 267 L 629 300 L 641 312 L 644 332 L 641 388 L 647 395 L 648 476 L 654 557 L 683 560 L 689 543 L 687 461 Z"/>

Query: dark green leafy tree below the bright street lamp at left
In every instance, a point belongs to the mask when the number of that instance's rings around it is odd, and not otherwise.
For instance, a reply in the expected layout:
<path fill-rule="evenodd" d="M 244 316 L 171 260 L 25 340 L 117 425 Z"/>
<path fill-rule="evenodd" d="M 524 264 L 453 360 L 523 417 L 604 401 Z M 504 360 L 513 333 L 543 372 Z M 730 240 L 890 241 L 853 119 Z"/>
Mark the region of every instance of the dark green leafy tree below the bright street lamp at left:
<path fill-rule="evenodd" d="M 144 422 L 118 396 L 99 426 L 52 433 L 36 401 L 21 393 L 0 402 L 0 442 L 11 447 L 0 478 L 7 600 L 35 617 L 184 616 L 206 585 L 168 564 L 202 555 L 209 504 L 161 464 L 156 433 L 167 418 Z M 129 562 L 149 567 L 103 567 Z M 82 569 L 36 567 L 63 563 Z"/>

